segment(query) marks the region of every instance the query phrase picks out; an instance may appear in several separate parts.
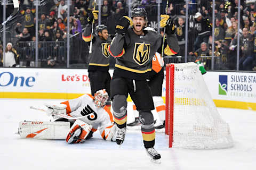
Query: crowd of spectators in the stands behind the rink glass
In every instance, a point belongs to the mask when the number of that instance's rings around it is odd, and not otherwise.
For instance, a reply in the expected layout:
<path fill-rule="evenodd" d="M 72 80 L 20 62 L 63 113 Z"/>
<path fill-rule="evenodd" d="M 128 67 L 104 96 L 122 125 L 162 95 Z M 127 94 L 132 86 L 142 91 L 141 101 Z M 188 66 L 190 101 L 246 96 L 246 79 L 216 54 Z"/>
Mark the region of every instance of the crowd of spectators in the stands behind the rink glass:
<path fill-rule="evenodd" d="M 71 56 L 70 62 L 87 64 L 88 47 L 82 40 L 83 28 L 87 24 L 87 15 L 93 10 L 94 0 L 73 0 L 70 5 L 70 17 L 67 21 L 68 5 L 65 0 L 44 1 L 38 10 L 38 58 L 41 66 L 66 66 L 67 22 L 70 24 Z M 134 0 L 131 8 L 143 7 L 150 19 L 156 19 L 156 0 Z M 17 50 L 16 65 L 19 61 L 23 66 L 34 66 L 35 61 L 35 12 L 34 0 L 21 0 L 18 22 L 15 23 L 15 41 L 12 49 Z M 211 69 L 212 26 L 214 23 L 214 69 L 235 70 L 237 48 L 240 50 L 239 70 L 256 71 L 256 5 L 254 1 L 241 1 L 241 23 L 238 28 L 238 0 L 216 0 L 215 20 L 212 21 L 212 1 L 189 1 L 188 41 L 185 41 L 186 2 L 183 0 L 169 1 L 167 13 L 177 25 L 177 37 L 180 45 L 179 56 L 185 56 L 185 44 L 188 44 L 188 56 L 191 60 L 201 60 L 206 69 Z M 161 14 L 165 13 L 166 1 L 162 1 Z M 95 4 L 98 9 L 98 1 Z M 116 22 L 129 13 L 127 0 L 103 0 L 101 5 L 101 24 L 108 27 L 110 36 L 115 34 Z M 95 22 L 97 24 L 97 22 Z M 156 29 L 156 28 L 155 28 Z M 239 47 L 237 46 L 237 32 Z M 9 42 L 7 42 L 9 43 Z M 74 51 L 74 53 L 72 53 Z M 79 54 L 77 52 L 79 51 Z M 5 50 L 0 50 L 0 55 Z M 73 54 L 73 55 L 72 55 Z M 79 60 L 77 60 L 79 56 Z M 54 61 L 54 62 L 53 62 Z M 3 63 L 3 62 L 2 62 Z M 24 64 L 25 63 L 25 64 Z M 51 64 L 54 63 L 54 64 Z"/>

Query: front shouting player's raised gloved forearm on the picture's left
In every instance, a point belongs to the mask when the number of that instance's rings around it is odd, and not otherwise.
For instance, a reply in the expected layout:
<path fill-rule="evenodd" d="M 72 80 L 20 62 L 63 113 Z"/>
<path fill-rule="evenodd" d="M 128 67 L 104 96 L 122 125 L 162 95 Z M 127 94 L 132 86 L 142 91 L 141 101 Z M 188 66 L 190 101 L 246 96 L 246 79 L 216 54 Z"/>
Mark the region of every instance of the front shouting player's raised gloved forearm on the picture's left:
<path fill-rule="evenodd" d="M 116 25 L 116 36 L 109 46 L 109 52 L 113 57 L 124 55 L 124 41 L 127 29 L 132 25 L 132 20 L 128 16 L 123 16 Z"/>

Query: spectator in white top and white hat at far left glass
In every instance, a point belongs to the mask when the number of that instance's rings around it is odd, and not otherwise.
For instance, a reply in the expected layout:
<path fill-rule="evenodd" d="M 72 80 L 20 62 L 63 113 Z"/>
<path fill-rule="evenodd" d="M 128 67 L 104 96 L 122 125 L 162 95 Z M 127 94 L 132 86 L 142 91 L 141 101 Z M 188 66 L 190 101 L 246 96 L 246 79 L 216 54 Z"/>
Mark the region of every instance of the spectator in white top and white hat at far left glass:
<path fill-rule="evenodd" d="M 5 49 L 5 56 L 3 58 L 4 67 L 15 67 L 18 63 L 18 57 L 16 50 L 12 48 L 12 44 L 8 43 Z"/>

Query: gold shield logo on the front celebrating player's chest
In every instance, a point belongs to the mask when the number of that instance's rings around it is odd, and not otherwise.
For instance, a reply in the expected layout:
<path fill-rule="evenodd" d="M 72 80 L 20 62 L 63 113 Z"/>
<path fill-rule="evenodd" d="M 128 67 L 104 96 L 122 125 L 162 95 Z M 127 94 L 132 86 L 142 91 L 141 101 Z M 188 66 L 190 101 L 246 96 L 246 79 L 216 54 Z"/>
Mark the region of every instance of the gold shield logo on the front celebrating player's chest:
<path fill-rule="evenodd" d="M 133 60 L 137 64 L 143 65 L 148 62 L 149 53 L 150 53 L 150 44 L 135 43 Z"/>

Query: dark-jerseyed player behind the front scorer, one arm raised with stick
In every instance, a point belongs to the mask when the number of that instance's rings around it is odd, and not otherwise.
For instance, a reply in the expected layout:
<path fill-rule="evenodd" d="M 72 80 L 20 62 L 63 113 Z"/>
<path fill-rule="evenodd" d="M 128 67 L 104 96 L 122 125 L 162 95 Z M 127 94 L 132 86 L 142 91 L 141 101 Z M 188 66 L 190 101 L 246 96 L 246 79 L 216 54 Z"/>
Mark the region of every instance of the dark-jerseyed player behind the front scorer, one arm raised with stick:
<path fill-rule="evenodd" d="M 96 12 L 98 11 L 89 13 L 89 23 L 86 25 L 83 33 L 83 39 L 86 42 L 91 41 L 92 20 L 93 18 L 98 19 Z M 108 46 L 110 43 L 111 38 L 108 36 L 106 25 L 98 25 L 95 29 L 95 34 L 92 36 L 92 54 L 89 56 L 88 67 L 92 96 L 101 89 L 106 89 L 108 95 L 110 95 L 111 77 L 108 72 L 110 60 Z M 106 103 L 106 106 L 110 108 L 110 100 Z"/>

